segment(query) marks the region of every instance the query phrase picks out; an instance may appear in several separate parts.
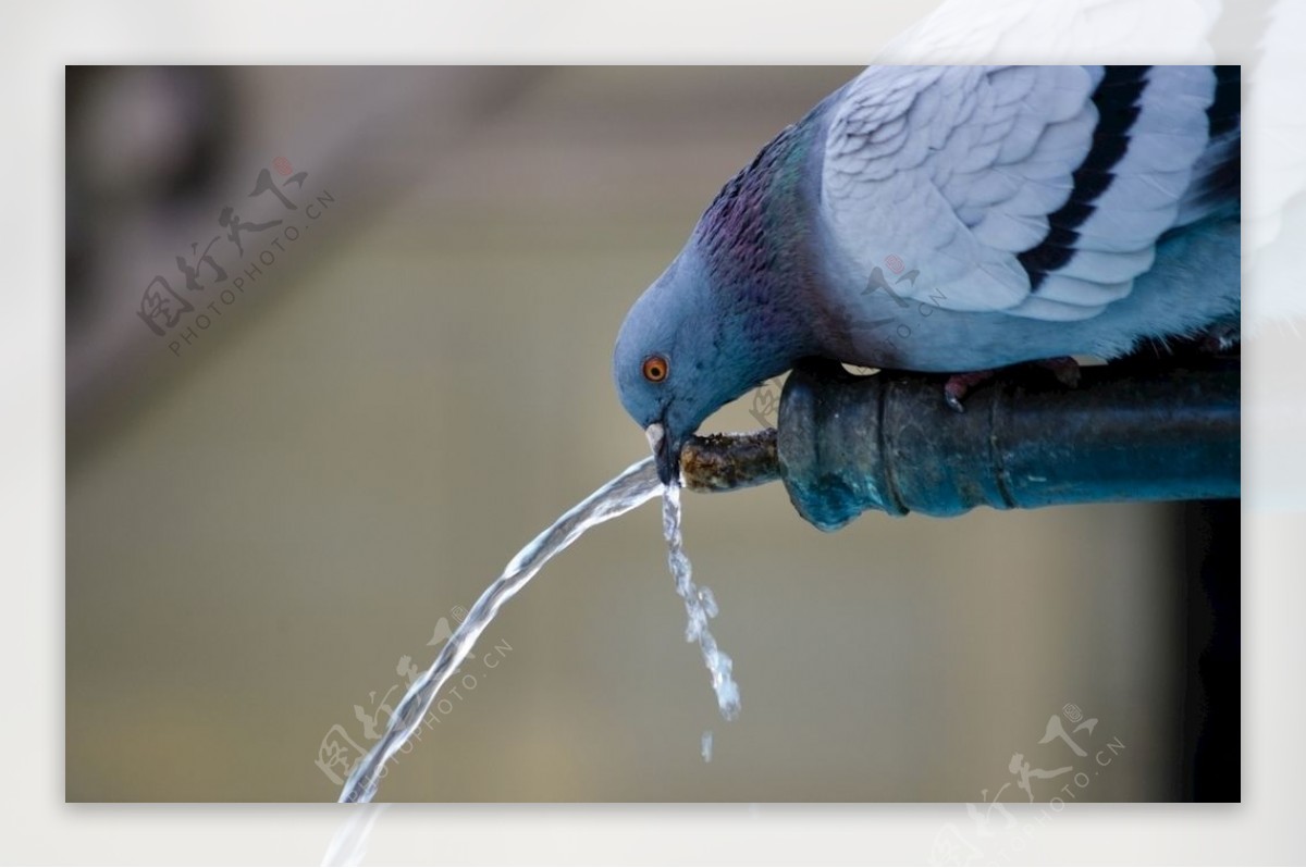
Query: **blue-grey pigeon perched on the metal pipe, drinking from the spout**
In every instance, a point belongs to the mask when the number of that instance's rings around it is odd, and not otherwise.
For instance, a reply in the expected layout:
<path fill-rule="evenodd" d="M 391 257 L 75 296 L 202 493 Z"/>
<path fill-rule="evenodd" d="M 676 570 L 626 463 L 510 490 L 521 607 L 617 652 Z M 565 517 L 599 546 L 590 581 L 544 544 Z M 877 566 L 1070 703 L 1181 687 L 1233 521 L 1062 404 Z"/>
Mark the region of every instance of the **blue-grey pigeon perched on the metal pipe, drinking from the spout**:
<path fill-rule="evenodd" d="M 953 375 L 1239 322 L 1237 67 L 870 67 L 716 196 L 613 377 L 663 484 L 799 360 Z"/>

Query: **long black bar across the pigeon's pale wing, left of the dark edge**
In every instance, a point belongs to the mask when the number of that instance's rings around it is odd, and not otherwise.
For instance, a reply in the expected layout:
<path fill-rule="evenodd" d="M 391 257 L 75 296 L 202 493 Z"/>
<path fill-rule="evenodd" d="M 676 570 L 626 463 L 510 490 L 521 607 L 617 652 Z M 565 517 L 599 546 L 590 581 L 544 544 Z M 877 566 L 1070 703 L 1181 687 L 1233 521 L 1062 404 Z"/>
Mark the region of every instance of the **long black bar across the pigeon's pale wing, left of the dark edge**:
<path fill-rule="evenodd" d="M 1111 168 L 1123 159 L 1130 145 L 1130 128 L 1139 116 L 1139 102 L 1151 67 L 1107 67 L 1093 91 L 1097 128 L 1093 144 L 1071 176 L 1074 189 L 1060 209 L 1047 217 L 1047 235 L 1037 245 L 1016 256 L 1037 292 L 1049 271 L 1064 268 L 1075 255 L 1076 231 L 1092 215 L 1097 198 L 1111 185 Z"/>

